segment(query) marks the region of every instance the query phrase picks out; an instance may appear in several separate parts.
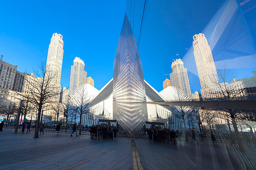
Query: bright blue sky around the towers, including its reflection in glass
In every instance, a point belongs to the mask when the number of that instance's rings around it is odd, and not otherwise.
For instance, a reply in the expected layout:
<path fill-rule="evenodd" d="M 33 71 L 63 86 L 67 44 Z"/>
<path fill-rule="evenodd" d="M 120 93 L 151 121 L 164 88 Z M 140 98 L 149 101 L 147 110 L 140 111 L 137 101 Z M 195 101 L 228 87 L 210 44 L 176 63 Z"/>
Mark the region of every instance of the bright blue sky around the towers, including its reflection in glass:
<path fill-rule="evenodd" d="M 51 36 L 57 32 L 63 35 L 64 40 L 63 86 L 69 86 L 71 65 L 77 56 L 85 61 L 88 76 L 92 76 L 96 88 L 101 89 L 113 77 L 115 50 L 125 10 L 128 16 L 130 14 L 129 3 L 125 0 L 1 0 L 0 55 L 4 56 L 3 61 L 18 65 L 18 71 L 30 73 L 42 61 L 46 63 Z M 143 3 L 136 1 L 130 15 L 137 42 Z M 214 23 L 212 18 L 224 3 L 213 0 L 146 2 L 139 53 L 144 79 L 156 90 L 162 90 L 162 82 L 170 78 L 168 74 L 171 73 L 173 59 L 183 59 L 191 48 L 192 36 L 203 32 L 209 23 Z M 255 14 L 255 8 L 251 9 L 254 4 L 247 1 L 241 7 L 246 12 L 244 17 L 254 40 L 255 19 L 251 16 Z M 251 48 L 255 50 L 255 46 Z M 196 74 L 195 67 L 190 67 L 193 63 L 189 60 L 184 63 L 193 77 L 193 73 Z M 255 67 L 230 68 L 232 73 L 240 73 L 237 78 L 253 76 L 252 70 L 255 71 Z M 200 89 L 197 80 L 191 80 L 191 89 L 192 92 Z"/>

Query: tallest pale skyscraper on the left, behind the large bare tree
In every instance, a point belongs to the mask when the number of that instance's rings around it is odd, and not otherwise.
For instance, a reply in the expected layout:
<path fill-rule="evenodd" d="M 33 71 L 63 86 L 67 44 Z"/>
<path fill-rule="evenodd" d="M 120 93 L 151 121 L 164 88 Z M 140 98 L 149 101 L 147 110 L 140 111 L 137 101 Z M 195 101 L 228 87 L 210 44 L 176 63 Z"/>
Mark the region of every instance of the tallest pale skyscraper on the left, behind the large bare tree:
<path fill-rule="evenodd" d="M 63 36 L 54 33 L 49 44 L 46 69 L 54 74 L 53 82 L 60 84 L 62 60 L 63 60 Z"/>

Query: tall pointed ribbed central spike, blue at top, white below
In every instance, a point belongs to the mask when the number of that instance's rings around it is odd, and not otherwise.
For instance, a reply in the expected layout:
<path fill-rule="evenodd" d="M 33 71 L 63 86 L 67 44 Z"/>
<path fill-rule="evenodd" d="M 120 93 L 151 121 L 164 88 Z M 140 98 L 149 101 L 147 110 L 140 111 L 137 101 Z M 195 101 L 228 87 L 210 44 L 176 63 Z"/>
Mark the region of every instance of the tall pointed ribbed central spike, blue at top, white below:
<path fill-rule="evenodd" d="M 128 134 L 139 132 L 147 121 L 146 93 L 141 59 L 127 15 L 114 59 L 113 115 Z"/>

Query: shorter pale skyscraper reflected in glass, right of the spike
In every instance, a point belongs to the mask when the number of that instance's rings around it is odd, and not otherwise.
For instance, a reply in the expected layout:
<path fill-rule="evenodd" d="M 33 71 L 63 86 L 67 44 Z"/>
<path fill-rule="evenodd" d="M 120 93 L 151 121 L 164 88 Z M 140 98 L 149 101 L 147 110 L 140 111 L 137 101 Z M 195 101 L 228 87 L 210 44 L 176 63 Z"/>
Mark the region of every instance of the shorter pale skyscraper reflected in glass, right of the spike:
<path fill-rule="evenodd" d="M 176 59 L 172 62 L 172 73 L 170 74 L 171 85 L 179 88 L 188 98 L 192 99 L 191 89 L 188 80 L 187 68 L 184 68 L 183 61 Z"/>

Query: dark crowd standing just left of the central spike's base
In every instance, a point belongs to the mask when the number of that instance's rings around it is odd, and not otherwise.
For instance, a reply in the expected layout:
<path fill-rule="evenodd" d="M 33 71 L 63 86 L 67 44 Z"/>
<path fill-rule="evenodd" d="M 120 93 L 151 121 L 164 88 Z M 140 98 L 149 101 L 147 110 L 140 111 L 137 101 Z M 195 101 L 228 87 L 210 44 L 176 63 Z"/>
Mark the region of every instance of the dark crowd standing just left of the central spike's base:
<path fill-rule="evenodd" d="M 92 125 L 90 127 L 90 139 L 99 138 L 99 139 L 115 139 L 117 138 L 117 127 L 109 125 Z"/>

